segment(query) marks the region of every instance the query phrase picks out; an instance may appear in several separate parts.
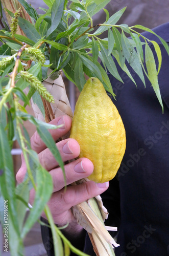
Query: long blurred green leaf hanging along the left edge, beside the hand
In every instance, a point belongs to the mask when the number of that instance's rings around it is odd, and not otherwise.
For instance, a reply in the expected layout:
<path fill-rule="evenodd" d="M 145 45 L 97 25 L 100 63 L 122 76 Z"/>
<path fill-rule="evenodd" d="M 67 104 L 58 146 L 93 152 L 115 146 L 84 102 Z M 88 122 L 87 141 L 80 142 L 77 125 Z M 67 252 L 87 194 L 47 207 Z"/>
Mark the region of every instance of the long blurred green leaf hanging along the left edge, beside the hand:
<path fill-rule="evenodd" d="M 11 221 L 16 233 L 19 234 L 16 212 L 15 175 L 13 169 L 13 161 L 11 156 L 11 148 L 8 143 L 8 137 L 4 131 L 2 123 L 0 123 L 0 141 L 1 193 L 4 197 L 4 200 L 8 201 L 8 211 L 11 216 Z"/>

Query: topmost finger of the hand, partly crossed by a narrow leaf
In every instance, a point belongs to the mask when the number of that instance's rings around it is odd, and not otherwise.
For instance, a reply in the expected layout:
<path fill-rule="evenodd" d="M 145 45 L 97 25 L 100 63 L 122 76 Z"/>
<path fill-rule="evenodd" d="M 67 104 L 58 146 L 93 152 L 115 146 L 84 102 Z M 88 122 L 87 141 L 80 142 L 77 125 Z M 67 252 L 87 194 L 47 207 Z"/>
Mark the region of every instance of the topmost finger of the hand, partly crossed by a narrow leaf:
<path fill-rule="evenodd" d="M 57 132 L 56 132 L 56 129 L 49 130 L 53 139 L 56 141 L 58 138 L 65 135 L 70 130 L 71 118 L 68 117 L 68 116 L 60 116 L 60 117 L 57 117 L 54 120 L 52 120 L 50 122 L 50 124 L 62 125 L 62 127 L 57 129 Z M 41 138 L 40 138 L 40 136 L 38 135 L 37 132 L 35 132 L 34 135 L 31 138 L 31 147 L 37 153 L 40 153 L 41 151 L 43 151 L 46 148 L 46 145 L 41 140 Z"/>

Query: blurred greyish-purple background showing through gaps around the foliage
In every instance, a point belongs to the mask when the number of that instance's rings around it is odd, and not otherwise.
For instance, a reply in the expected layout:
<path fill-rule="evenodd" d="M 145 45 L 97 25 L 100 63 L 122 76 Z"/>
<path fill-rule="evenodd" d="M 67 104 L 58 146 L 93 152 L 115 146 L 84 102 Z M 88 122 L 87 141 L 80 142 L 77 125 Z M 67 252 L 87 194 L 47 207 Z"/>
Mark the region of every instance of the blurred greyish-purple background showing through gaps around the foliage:
<path fill-rule="evenodd" d="M 47 8 L 47 6 L 41 0 L 27 0 L 27 2 L 30 5 L 34 6 L 39 14 L 43 14 L 43 11 L 40 10 L 39 7 Z M 127 24 L 129 26 L 139 24 L 152 29 L 169 21 L 169 0 L 111 0 L 105 8 L 109 11 L 111 16 L 112 14 L 124 7 L 127 7 L 126 11 L 122 18 L 120 18 L 118 24 Z M 104 22 L 105 16 L 105 12 L 103 10 L 100 11 L 93 17 L 93 25 Z M 74 110 L 76 100 L 79 96 L 79 91 L 78 89 L 76 89 L 73 83 L 69 82 L 65 77 L 63 77 L 63 79 L 65 82 L 66 92 L 70 101 L 71 108 Z M 27 111 L 33 115 L 33 111 L 31 108 L 27 108 Z M 31 125 L 29 122 L 26 123 L 26 129 L 29 132 L 30 136 L 32 136 L 35 132 L 34 126 Z M 12 154 L 16 173 L 21 165 L 20 151 L 16 143 L 14 144 Z M 3 247 L 1 248 L 1 244 L 3 243 L 1 243 L 1 241 L 3 241 L 3 234 L 0 232 L 0 251 L 3 251 Z M 41 241 L 39 223 L 36 223 L 29 232 L 25 240 L 25 246 L 26 255 L 46 255 Z M 5 252 L 5 254 L 10 255 L 9 252 Z"/>

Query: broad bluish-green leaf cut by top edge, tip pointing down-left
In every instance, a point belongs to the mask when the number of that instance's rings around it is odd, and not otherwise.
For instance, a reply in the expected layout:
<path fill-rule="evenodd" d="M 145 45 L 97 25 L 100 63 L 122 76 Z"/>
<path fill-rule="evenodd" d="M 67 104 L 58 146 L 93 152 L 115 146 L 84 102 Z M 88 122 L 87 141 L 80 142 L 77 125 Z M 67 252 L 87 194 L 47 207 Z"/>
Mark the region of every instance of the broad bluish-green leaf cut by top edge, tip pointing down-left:
<path fill-rule="evenodd" d="M 63 8 L 64 0 L 55 0 L 51 9 L 51 27 L 47 30 L 46 36 L 49 36 L 55 29 L 57 29 L 63 15 Z"/>

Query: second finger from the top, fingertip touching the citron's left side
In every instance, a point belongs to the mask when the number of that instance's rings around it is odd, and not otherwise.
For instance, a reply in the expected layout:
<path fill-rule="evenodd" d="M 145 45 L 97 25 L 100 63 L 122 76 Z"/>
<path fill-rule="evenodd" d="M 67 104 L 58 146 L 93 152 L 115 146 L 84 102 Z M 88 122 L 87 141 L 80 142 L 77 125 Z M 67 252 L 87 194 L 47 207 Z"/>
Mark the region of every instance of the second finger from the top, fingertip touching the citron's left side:
<path fill-rule="evenodd" d="M 74 139 L 65 139 L 59 141 L 56 145 L 63 162 L 77 158 L 80 154 L 79 143 Z M 46 148 L 44 151 L 40 152 L 38 156 L 40 163 L 46 170 L 51 170 L 58 166 L 58 162 L 49 148 Z"/>

